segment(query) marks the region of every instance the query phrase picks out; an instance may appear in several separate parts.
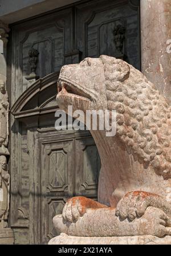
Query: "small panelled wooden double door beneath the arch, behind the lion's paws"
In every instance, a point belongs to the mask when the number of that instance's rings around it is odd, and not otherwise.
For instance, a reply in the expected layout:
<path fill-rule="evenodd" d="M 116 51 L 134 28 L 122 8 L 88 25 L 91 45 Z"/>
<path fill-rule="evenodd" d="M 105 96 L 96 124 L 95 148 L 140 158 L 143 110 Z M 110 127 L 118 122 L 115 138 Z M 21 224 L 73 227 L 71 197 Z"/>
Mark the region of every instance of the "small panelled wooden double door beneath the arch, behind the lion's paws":
<path fill-rule="evenodd" d="M 62 213 L 68 198 L 87 196 L 97 200 L 100 171 L 99 154 L 88 132 L 47 135 L 39 138 L 40 243 L 45 244 L 58 235 L 52 218 Z"/>

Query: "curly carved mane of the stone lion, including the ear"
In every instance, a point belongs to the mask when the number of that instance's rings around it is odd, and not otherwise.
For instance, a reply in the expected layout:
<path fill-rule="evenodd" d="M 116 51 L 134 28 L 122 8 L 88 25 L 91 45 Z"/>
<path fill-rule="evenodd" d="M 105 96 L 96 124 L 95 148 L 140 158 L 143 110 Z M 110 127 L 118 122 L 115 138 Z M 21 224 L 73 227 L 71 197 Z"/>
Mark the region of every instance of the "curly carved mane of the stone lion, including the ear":
<path fill-rule="evenodd" d="M 170 106 L 153 83 L 123 60 L 101 55 L 108 109 L 117 111 L 117 136 L 147 168 L 171 178 Z"/>

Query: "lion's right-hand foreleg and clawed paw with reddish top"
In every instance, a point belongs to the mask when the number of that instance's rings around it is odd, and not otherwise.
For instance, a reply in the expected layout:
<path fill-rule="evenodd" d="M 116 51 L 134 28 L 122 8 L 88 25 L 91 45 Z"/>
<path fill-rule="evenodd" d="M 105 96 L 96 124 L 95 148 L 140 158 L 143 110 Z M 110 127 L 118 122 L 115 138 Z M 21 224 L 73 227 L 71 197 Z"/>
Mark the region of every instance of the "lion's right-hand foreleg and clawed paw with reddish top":
<path fill-rule="evenodd" d="M 144 215 L 146 208 L 152 206 L 161 209 L 168 217 L 171 217 L 171 204 L 163 197 L 154 193 L 133 191 L 125 194 L 116 207 L 116 216 L 121 220 L 128 218 L 133 221 L 136 217 Z"/>

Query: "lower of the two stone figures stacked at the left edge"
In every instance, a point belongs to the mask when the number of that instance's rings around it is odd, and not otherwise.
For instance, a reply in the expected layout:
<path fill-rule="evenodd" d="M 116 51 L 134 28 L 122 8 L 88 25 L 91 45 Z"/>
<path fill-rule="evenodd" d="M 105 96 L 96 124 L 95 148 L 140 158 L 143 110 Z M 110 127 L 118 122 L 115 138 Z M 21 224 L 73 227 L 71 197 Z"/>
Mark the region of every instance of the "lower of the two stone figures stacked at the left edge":
<path fill-rule="evenodd" d="M 0 227 L 7 227 L 7 217 L 9 214 L 9 186 L 10 174 L 6 156 L 0 156 Z"/>

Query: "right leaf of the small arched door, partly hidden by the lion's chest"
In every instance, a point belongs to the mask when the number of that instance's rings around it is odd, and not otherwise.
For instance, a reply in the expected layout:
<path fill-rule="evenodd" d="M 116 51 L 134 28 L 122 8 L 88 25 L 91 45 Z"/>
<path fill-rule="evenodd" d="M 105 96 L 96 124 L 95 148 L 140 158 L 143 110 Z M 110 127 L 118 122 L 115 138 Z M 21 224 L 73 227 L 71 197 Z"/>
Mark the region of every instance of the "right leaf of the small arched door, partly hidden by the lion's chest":
<path fill-rule="evenodd" d="M 76 139 L 75 194 L 97 199 L 100 157 L 92 137 Z"/>

